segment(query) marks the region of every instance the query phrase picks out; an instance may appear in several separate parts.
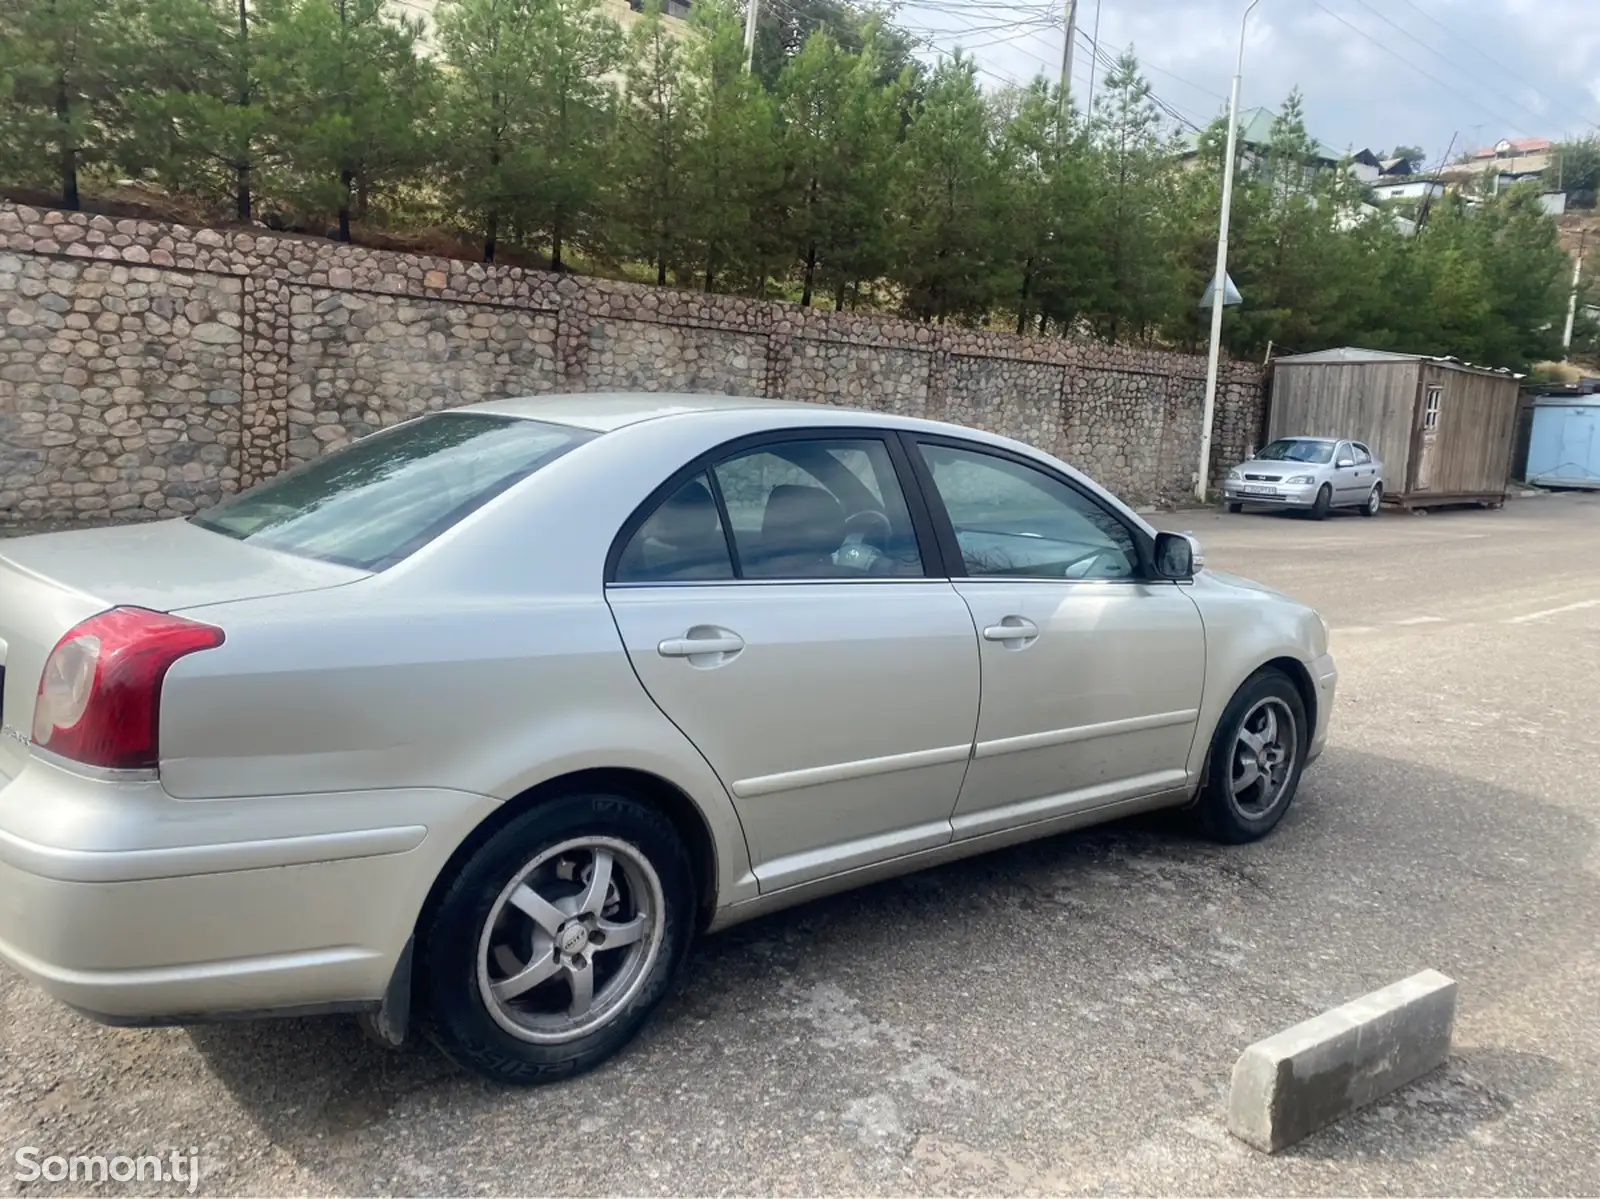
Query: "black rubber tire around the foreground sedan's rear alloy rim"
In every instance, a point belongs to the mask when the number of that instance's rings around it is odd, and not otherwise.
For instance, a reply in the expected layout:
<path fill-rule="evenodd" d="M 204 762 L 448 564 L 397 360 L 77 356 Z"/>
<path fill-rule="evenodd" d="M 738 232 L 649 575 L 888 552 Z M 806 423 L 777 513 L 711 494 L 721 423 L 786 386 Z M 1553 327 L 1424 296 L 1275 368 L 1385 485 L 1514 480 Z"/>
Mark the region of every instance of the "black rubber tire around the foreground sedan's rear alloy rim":
<path fill-rule="evenodd" d="M 605 1023 L 557 1044 L 533 1042 L 507 1031 L 491 1015 L 478 986 L 480 941 L 486 944 L 486 924 L 502 911 L 504 893 L 530 863 L 554 847 L 586 837 L 621 842 L 619 858 L 622 847 L 627 847 L 654 871 L 661 884 L 661 911 L 656 917 L 661 935 L 656 938 L 651 932 L 640 938 L 653 946 L 646 954 L 654 956 L 640 959 L 638 981 L 630 984 L 626 1002 L 621 1002 L 619 992 L 618 1007 Z M 560 869 L 560 860 L 552 860 L 552 866 Z M 627 885 L 626 879 L 622 885 Z M 661 812 L 637 799 L 613 794 L 550 799 L 512 818 L 478 847 L 419 920 L 419 1025 L 456 1065 L 496 1082 L 533 1085 L 582 1074 L 632 1041 L 667 996 L 688 952 L 694 914 L 690 856 L 672 821 Z M 600 938 L 595 936 L 586 946 L 589 962 L 598 960 L 598 944 Z M 598 967 L 594 967 L 590 978 L 600 978 Z M 603 991 L 602 984 L 597 1005 Z"/>

